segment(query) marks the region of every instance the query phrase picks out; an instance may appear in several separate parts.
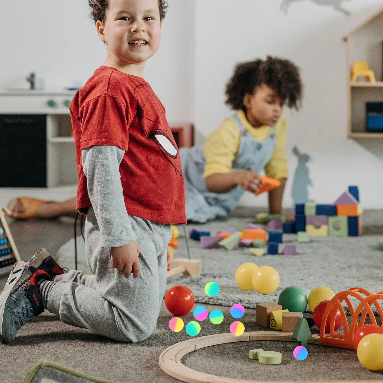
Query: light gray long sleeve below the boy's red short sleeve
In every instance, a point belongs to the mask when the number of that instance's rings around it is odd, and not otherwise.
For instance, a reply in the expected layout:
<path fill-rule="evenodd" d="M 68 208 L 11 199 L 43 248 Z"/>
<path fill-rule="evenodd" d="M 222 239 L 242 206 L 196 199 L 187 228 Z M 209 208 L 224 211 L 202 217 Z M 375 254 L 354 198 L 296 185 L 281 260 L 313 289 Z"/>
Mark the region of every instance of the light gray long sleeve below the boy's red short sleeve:
<path fill-rule="evenodd" d="M 82 150 L 88 195 L 100 227 L 101 247 L 124 246 L 137 240 L 126 211 L 119 165 L 125 151 L 118 146 Z"/>

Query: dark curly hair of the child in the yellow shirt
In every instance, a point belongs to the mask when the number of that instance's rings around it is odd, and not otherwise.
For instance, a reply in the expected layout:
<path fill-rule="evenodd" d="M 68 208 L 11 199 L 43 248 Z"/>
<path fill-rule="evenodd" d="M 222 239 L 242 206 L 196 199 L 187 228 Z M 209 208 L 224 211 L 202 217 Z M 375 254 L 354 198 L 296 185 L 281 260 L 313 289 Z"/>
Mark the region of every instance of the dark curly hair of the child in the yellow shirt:
<path fill-rule="evenodd" d="M 243 62 L 236 66 L 226 87 L 226 104 L 232 109 L 246 111 L 243 99 L 246 93 L 254 95 L 257 87 L 266 84 L 289 108 L 298 110 L 302 99 L 299 68 L 289 60 L 267 56 L 266 60 Z"/>

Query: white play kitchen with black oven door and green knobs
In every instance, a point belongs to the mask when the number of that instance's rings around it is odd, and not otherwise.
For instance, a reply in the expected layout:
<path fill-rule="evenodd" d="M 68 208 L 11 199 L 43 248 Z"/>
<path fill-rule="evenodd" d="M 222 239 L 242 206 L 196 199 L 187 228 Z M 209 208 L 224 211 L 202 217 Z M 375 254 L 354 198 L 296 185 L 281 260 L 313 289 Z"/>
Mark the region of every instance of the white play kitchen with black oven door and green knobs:
<path fill-rule="evenodd" d="M 0 187 L 51 188 L 77 184 L 69 104 L 75 89 L 0 90 Z"/>

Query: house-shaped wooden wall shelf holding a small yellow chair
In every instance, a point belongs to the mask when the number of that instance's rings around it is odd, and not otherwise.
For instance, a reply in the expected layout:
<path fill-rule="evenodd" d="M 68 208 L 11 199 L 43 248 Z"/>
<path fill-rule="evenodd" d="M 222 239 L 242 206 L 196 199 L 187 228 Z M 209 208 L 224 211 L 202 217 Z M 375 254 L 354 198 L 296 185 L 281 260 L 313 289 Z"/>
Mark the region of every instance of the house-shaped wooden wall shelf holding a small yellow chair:
<path fill-rule="evenodd" d="M 383 8 L 370 16 L 364 23 L 344 36 L 347 43 L 347 75 L 351 78 L 352 64 L 367 61 L 377 80 L 383 79 L 382 42 Z M 383 81 L 349 81 L 347 85 L 349 138 L 383 138 L 383 132 L 366 131 L 366 103 L 383 102 Z"/>

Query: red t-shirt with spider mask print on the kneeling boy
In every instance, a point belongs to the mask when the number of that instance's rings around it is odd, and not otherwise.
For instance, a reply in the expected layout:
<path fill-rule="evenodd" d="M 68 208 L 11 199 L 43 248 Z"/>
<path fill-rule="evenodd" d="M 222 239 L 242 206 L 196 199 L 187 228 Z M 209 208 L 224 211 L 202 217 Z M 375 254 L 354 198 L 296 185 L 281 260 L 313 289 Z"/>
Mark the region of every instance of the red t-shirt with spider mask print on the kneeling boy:
<path fill-rule="evenodd" d="M 164 106 L 141 77 L 101 66 L 70 104 L 75 139 L 77 209 L 92 205 L 81 151 L 113 145 L 125 151 L 119 170 L 128 214 L 159 223 L 186 223 L 180 155 Z"/>

